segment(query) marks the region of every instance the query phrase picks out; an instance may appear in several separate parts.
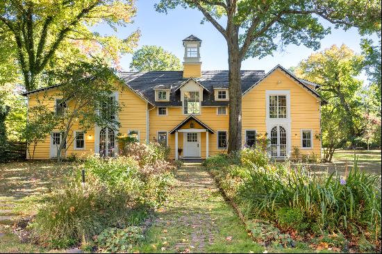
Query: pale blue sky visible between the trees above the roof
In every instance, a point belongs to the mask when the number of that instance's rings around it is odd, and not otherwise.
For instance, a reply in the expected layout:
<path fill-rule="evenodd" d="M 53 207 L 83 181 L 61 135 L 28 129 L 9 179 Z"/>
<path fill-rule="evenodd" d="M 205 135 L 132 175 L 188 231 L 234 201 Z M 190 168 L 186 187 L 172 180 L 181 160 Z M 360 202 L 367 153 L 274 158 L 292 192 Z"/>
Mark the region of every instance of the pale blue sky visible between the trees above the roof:
<path fill-rule="evenodd" d="M 156 12 L 154 3 L 151 0 L 137 0 L 138 12 L 133 24 L 121 27 L 115 33 L 113 29 L 106 25 L 97 26 L 94 31 L 101 35 L 117 35 L 126 38 L 136 29 L 140 29 L 141 37 L 138 49 L 143 45 L 162 46 L 165 50 L 174 53 L 179 59 L 183 60 L 182 40 L 193 34 L 203 42 L 201 44 L 202 70 L 221 70 L 228 69 L 228 53 L 224 37 L 209 22 L 201 24 L 203 15 L 198 10 L 176 8 L 169 10 L 168 14 Z M 325 26 L 330 26 L 329 22 L 324 21 Z M 332 33 L 326 35 L 321 41 L 321 49 L 329 48 L 333 44 L 340 46 L 346 44 L 349 48 L 360 53 L 360 40 L 356 28 L 348 31 L 332 28 Z M 289 68 L 296 66 L 301 60 L 308 58 L 314 53 L 313 49 L 306 46 L 289 45 L 283 52 L 274 52 L 273 56 L 262 59 L 250 58 L 242 62 L 242 69 L 263 69 L 269 71 L 276 65 Z M 123 70 L 128 71 L 131 62 L 131 54 L 122 56 L 120 65 Z M 365 76 L 361 77 L 365 78 Z"/>

